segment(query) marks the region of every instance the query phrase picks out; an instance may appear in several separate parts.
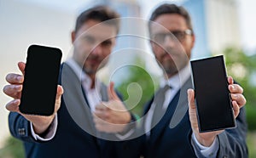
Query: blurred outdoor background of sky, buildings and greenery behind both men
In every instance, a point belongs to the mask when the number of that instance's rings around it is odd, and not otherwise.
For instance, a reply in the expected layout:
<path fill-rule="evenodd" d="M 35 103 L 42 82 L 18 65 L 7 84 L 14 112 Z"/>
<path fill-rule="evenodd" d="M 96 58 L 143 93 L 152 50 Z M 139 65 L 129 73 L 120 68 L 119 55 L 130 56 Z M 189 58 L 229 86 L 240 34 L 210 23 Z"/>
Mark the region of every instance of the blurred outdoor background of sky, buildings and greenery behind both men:
<path fill-rule="evenodd" d="M 195 29 L 195 48 L 192 59 L 200 59 L 217 54 L 224 54 L 228 74 L 244 87 L 247 98 L 247 144 L 250 157 L 256 157 L 256 1 L 254 0 L 170 0 L 168 2 L 183 5 L 191 14 Z M 26 61 L 26 49 L 32 43 L 61 48 L 63 60 L 71 53 L 71 31 L 76 17 L 85 8 L 96 4 L 107 4 L 116 9 L 122 17 L 148 19 L 152 9 L 162 3 L 161 0 L 0 0 L 0 157 L 24 157 L 22 146 L 10 137 L 8 114 L 4 105 L 11 99 L 3 94 L 5 76 L 9 72 L 18 72 L 17 62 Z M 120 33 L 127 29 L 134 32 L 146 32 L 146 29 L 134 28 L 122 20 Z M 132 38 L 132 37 L 131 37 Z M 122 48 L 140 48 L 151 54 L 148 42 L 137 42 L 129 37 L 118 38 L 115 51 Z M 128 67 L 126 79 L 121 74 L 113 77 L 119 91 L 127 97 L 127 85 L 142 82 L 143 93 L 150 97 L 154 87 L 148 86 L 160 76 L 160 70 L 154 59 L 143 59 L 143 55 L 115 54 L 119 62 L 134 62 L 143 67 Z M 148 62 L 150 60 L 150 62 Z M 152 62 L 151 62 L 152 61 Z M 148 64 L 149 63 L 149 64 Z M 110 59 L 109 69 L 114 68 Z M 145 71 L 148 70 L 148 71 Z M 132 73 L 128 73 L 132 71 Z M 105 71 L 103 74 L 107 74 Z M 149 74 L 149 76 L 148 76 Z M 109 77 L 109 76 L 108 76 Z M 143 78 L 143 80 L 142 80 Z M 147 78 L 145 80 L 145 78 Z M 122 82 L 120 82 L 122 81 Z M 137 116 L 141 115 L 141 99 L 134 108 Z"/>

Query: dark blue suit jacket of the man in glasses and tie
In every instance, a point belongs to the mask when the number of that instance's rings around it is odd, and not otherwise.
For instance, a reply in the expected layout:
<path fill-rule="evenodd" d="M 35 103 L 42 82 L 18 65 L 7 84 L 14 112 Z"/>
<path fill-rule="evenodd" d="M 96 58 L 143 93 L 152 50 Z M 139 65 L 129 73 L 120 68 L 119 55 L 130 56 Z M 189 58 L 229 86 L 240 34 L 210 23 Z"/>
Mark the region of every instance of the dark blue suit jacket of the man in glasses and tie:
<path fill-rule="evenodd" d="M 117 146 L 119 156 L 127 158 L 140 155 L 150 158 L 196 157 L 190 142 L 192 130 L 188 110 L 183 113 L 185 108 L 188 109 L 187 89 L 189 87 L 192 87 L 190 79 L 172 99 L 160 122 L 151 129 L 150 138 L 144 134 L 141 137 L 120 142 Z M 149 110 L 152 102 L 153 99 L 145 106 L 145 113 Z M 240 115 L 236 118 L 236 126 L 236 128 L 227 129 L 218 135 L 218 157 L 247 157 L 247 123 L 244 108 L 241 108 Z M 144 123 L 142 128 L 144 129 Z"/>

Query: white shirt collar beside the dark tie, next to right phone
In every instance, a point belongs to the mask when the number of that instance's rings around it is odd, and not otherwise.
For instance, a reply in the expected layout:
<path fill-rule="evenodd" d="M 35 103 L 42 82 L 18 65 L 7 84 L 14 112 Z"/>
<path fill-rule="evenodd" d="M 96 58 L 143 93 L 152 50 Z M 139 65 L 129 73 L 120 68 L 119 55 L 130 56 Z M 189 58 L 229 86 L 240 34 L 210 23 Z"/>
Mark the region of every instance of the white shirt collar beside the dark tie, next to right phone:
<path fill-rule="evenodd" d="M 190 65 L 186 65 L 182 70 L 179 71 L 175 76 L 168 78 L 167 80 L 162 78 L 160 80 L 160 87 L 164 87 L 168 84 L 172 89 L 179 89 L 189 79 L 191 75 Z"/>

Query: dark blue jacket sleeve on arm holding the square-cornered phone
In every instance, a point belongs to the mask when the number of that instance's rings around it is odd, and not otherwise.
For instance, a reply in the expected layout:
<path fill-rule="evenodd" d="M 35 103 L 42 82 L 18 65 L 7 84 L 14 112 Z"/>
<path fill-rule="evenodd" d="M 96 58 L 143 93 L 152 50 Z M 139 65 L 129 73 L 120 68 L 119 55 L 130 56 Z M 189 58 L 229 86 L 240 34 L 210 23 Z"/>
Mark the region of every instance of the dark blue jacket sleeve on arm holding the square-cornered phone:
<path fill-rule="evenodd" d="M 236 117 L 236 128 L 227 129 L 218 135 L 218 157 L 248 157 L 247 151 L 247 121 L 245 108 L 241 108 Z"/>

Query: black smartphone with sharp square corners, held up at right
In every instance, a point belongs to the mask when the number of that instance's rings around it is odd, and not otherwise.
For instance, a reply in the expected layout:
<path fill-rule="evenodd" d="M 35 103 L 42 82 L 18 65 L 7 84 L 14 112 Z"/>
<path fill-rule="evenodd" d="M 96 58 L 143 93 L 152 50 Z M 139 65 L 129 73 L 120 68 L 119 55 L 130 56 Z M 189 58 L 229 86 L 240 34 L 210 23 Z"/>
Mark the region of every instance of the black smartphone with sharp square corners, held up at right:
<path fill-rule="evenodd" d="M 236 127 L 224 56 L 190 61 L 200 133 Z"/>

